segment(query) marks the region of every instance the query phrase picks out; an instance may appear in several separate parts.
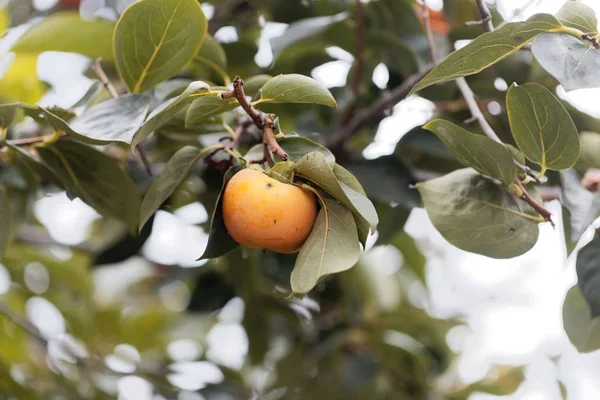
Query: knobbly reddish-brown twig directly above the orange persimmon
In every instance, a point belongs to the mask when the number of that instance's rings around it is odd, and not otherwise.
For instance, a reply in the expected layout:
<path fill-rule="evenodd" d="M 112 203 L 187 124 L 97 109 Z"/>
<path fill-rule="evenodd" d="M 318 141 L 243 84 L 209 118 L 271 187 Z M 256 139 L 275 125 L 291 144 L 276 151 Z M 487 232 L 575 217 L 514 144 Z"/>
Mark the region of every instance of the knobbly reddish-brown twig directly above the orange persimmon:
<path fill-rule="evenodd" d="M 263 131 L 263 143 L 267 146 L 266 150 L 271 151 L 284 161 L 288 159 L 287 153 L 281 148 L 279 143 L 277 143 L 277 139 L 275 139 L 275 134 L 273 132 L 275 116 L 272 114 L 267 115 L 250 104 L 246 97 L 246 93 L 244 93 L 244 81 L 242 78 L 236 76 L 233 80 L 233 89 L 219 93 L 218 97 L 221 100 L 235 98 L 246 114 L 252 118 L 254 125 Z M 237 139 L 239 140 L 239 137 Z M 270 158 L 270 154 L 269 157 L 265 154 L 265 158 L 267 161 L 270 160 L 269 164 L 272 166 L 273 160 Z"/>

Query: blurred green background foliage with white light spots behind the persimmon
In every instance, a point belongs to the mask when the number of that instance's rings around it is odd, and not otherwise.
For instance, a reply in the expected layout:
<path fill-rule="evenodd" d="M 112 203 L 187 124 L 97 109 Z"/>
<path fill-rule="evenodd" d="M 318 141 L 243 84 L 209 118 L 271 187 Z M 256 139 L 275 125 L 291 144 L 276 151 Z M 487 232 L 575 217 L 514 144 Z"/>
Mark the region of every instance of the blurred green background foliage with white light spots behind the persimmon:
<path fill-rule="evenodd" d="M 107 99 L 88 68 L 91 59 L 82 64 L 86 79 L 76 83 L 68 82 L 72 79 L 60 65 L 57 71 L 48 60 L 42 62 L 48 53 L 40 53 L 68 49 L 86 31 L 64 23 L 47 32 L 44 46 L 33 43 L 22 51 L 9 52 L 7 40 L 32 18 L 57 13 L 75 19 L 81 13 L 87 20 L 111 24 L 129 3 L 5 2 L 0 15 L 0 30 L 6 33 L 0 41 L 1 101 L 55 102 L 73 91 L 80 93 L 73 95 L 78 98 L 61 107 L 76 106 L 85 96 Z M 357 13 L 364 12 L 360 73 L 354 72 L 354 61 L 346 85 L 331 89 L 338 110 L 277 104 L 261 108 L 276 113 L 284 131 L 331 144 L 357 110 L 429 63 L 422 6 L 412 0 L 373 0 L 360 6 L 363 11 L 354 0 L 213 0 L 202 5 L 211 36 L 177 80 L 157 87 L 157 104 L 191 80 L 220 86 L 240 75 L 252 95 L 264 75 L 311 75 L 340 57 L 352 59 L 361 18 Z M 465 27 L 466 21 L 479 19 L 474 1 L 449 0 L 444 6 L 443 12 L 431 11 L 442 54 L 454 41 L 482 32 L 481 27 Z M 494 22 L 502 23 L 497 13 Z M 272 57 L 258 53 L 269 40 Z M 103 43 L 97 46 L 90 48 L 90 57 Z M 123 90 L 111 60 L 105 59 L 103 66 Z M 389 79 L 377 84 L 373 73 L 381 66 Z M 507 142 L 511 135 L 499 86 L 557 83 L 528 52 L 468 80 Z M 435 104 L 436 116 L 457 123 L 470 116 L 453 85 L 428 88 L 421 96 Z M 570 111 L 580 130 L 600 131 L 596 119 L 573 107 Z M 0 266 L 0 296 L 12 310 L 9 314 L 27 316 L 36 328 L 27 332 L 14 318 L 0 316 L 0 397 L 458 400 L 475 391 L 513 392 L 523 378 L 519 368 L 499 368 L 494 379 L 468 387 L 459 381 L 446 334 L 461 316 L 438 320 L 428 314 L 427 260 L 403 229 L 411 209 L 420 205 L 410 185 L 460 165 L 434 134 L 421 128 L 404 135 L 389 154 L 364 159 L 361 152 L 374 141 L 386 115 L 331 146 L 376 204 L 379 230 L 355 268 L 326 278 L 304 298 L 287 297 L 293 255 L 238 249 L 206 263 L 194 261 L 202 254 L 207 215 L 221 188 L 218 168 L 195 166 L 153 223 L 131 237 L 120 223 L 100 218 L 81 202 L 69 203 L 51 181 L 40 182 L 0 163 L 0 181 L 9 188 L 22 221 Z M 155 172 L 184 144 L 215 143 L 226 134 L 223 121 L 233 124 L 238 117 L 231 111 L 193 129 L 184 126 L 182 117 L 163 127 L 144 144 Z M 15 134 L 26 135 L 31 120 L 18 118 Z M 140 192 L 148 187 L 150 179 L 130 160 L 126 147 L 110 145 L 106 151 L 122 160 Z M 65 224 L 69 218 L 78 220 Z M 89 231 L 81 237 L 58 232 L 75 225 Z M 179 254 L 161 247 L 177 241 Z"/>

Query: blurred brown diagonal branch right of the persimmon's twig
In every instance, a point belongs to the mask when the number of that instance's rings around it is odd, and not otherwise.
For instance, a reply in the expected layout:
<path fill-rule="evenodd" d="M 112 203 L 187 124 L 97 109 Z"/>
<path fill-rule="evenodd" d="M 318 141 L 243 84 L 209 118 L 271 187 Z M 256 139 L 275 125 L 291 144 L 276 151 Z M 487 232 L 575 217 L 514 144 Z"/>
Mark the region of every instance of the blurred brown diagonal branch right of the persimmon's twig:
<path fill-rule="evenodd" d="M 404 100 L 413 86 L 423 79 L 432 68 L 433 64 L 427 66 L 424 71 L 409 76 L 400 86 L 395 87 L 390 92 L 382 93 L 369 107 L 358 110 L 345 126 L 329 137 L 327 140 L 327 147 L 340 149 L 348 139 L 358 133 L 369 121 L 376 117 L 383 116 L 387 110 L 401 100 Z"/>

